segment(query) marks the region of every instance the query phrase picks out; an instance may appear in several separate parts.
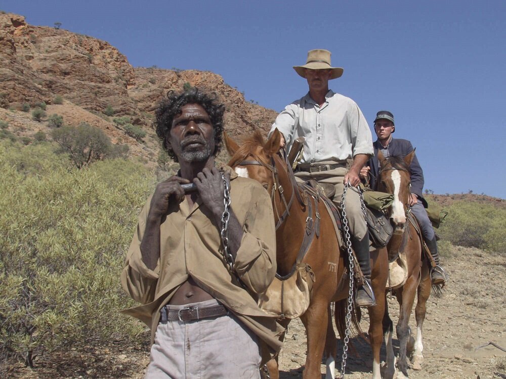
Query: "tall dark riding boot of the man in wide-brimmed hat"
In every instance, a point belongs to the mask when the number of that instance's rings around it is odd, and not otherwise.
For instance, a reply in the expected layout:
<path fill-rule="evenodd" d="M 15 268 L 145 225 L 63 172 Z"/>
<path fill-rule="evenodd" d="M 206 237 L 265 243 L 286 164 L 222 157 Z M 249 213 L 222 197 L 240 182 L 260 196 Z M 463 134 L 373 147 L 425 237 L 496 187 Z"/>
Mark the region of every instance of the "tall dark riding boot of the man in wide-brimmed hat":
<path fill-rule="evenodd" d="M 364 285 L 357 288 L 355 296 L 356 307 L 372 307 L 376 305 L 374 293 L 371 287 L 371 264 L 369 253 L 369 234 L 365 233 L 362 240 L 358 240 L 355 236 L 351 236 L 351 244 L 357 256 L 358 264 L 362 274 L 364 274 Z"/>

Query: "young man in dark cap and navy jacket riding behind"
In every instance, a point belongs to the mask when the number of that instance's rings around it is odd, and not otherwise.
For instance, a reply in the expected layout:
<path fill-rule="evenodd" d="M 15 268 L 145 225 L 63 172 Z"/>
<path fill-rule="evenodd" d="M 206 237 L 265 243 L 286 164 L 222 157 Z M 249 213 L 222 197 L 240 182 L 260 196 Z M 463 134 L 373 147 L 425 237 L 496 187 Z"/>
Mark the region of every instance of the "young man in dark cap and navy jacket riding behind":
<path fill-rule="evenodd" d="M 372 189 L 377 189 L 377 178 L 379 175 L 378 151 L 383 153 L 385 158 L 395 156 L 406 156 L 414 149 L 410 141 L 406 139 L 393 138 L 392 133 L 395 132 L 394 115 L 389 111 L 379 111 L 374 119 L 374 131 L 377 140 L 374 142 L 374 156 L 369 160 L 366 166 L 360 171 L 362 178 L 369 177 L 369 184 Z M 416 155 L 413 156 L 411 165 L 409 166 L 411 173 L 411 195 L 409 206 L 411 213 L 418 221 L 424 240 L 429 248 L 436 267 L 431 270 L 432 282 L 437 285 L 444 285 L 446 281 L 446 273 L 439 265 L 439 251 L 436 242 L 436 233 L 432 226 L 431 220 L 427 215 L 425 207 L 427 201 L 423 197 L 424 189 L 424 172 L 418 163 Z"/>

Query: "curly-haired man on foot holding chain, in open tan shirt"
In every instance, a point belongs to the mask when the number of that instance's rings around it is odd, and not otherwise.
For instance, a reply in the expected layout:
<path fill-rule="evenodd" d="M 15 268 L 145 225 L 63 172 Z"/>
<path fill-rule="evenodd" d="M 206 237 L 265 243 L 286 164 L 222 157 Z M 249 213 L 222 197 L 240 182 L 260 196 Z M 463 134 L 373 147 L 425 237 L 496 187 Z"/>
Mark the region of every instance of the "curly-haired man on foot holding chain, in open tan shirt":
<path fill-rule="evenodd" d="M 260 378 L 259 344 L 267 355 L 281 347 L 282 328 L 257 306 L 276 273 L 271 201 L 259 182 L 215 166 L 224 110 L 192 88 L 169 92 L 155 113 L 181 169 L 148 199 L 121 274 L 142 304 L 125 313 L 151 327 L 149 379 Z M 185 192 L 192 182 L 195 191 Z"/>

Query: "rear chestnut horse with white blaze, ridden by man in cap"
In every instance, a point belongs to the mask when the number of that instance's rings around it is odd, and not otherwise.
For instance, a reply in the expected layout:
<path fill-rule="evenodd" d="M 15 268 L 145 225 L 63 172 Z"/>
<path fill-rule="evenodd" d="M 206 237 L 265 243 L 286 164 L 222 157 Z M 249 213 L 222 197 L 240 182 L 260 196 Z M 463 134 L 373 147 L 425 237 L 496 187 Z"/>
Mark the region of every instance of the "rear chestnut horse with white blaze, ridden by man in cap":
<path fill-rule="evenodd" d="M 414 298 L 417 295 L 415 308 L 416 317 L 416 340 L 412 352 L 412 364 L 414 369 L 420 369 L 423 360 L 421 341 L 421 329 L 426 315 L 426 303 L 431 294 L 431 278 L 429 262 L 423 253 L 423 241 L 418 235 L 413 223 L 416 220 L 412 215 L 408 216 L 408 199 L 410 195 L 410 172 L 409 165 L 413 159 L 414 151 L 405 157 L 385 158 L 382 152 L 378 152 L 378 161 L 381 167 L 378 177 L 378 191 L 394 195 L 394 202 L 390 208 L 390 219 L 395 225 L 395 232 L 387 248 L 389 254 L 392 250 L 406 253 L 408 277 L 406 282 L 394 293 L 399 302 L 399 320 L 396 326 L 397 338 L 399 340 L 399 368 L 398 378 L 407 377 L 407 346 L 411 330 L 409 328 L 409 316 L 413 307 Z M 411 220 L 410 220 L 411 219 Z M 395 254 L 395 253 L 394 253 Z M 385 327 L 392 330 L 392 320 L 388 315 L 388 303 L 385 305 Z M 392 333 L 386 336 L 387 362 L 394 361 L 392 349 Z"/>

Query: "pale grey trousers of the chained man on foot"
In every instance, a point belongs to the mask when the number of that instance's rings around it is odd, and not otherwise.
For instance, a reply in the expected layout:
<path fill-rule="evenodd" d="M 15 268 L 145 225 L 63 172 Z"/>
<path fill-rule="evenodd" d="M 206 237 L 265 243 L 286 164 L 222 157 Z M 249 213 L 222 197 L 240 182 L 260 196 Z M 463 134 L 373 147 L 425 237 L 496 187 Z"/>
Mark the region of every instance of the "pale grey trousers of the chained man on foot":
<path fill-rule="evenodd" d="M 216 300 L 182 306 L 199 309 Z M 232 313 L 195 321 L 160 322 L 145 379 L 260 379 L 258 339 Z"/>

